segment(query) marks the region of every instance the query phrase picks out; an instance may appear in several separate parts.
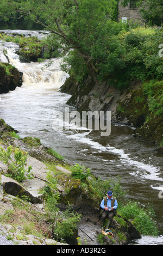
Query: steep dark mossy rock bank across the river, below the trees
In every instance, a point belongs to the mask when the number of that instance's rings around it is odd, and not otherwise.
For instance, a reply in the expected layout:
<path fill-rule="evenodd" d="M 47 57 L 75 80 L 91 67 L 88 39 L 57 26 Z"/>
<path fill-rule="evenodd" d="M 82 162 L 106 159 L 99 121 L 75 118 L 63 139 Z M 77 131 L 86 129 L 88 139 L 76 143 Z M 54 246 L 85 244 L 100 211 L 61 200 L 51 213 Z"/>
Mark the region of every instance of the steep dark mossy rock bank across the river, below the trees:
<path fill-rule="evenodd" d="M 162 80 L 153 80 L 142 84 L 134 80 L 120 90 L 89 75 L 83 85 L 69 77 L 61 92 L 72 95 L 67 104 L 79 112 L 111 111 L 112 123 L 133 126 L 135 136 L 161 146 L 162 83 Z"/>

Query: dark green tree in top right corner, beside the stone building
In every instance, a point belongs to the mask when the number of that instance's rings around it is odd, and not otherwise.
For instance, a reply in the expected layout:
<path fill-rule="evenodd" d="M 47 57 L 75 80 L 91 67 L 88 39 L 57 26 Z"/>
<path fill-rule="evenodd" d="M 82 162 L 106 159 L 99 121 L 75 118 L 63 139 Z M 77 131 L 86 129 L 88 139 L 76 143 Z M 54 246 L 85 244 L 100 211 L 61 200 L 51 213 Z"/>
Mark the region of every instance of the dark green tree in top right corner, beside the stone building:
<path fill-rule="evenodd" d="M 130 0 L 123 0 L 126 6 Z M 163 1 L 162 0 L 135 0 L 137 7 L 140 7 L 142 18 L 149 25 L 162 26 L 163 24 Z"/>

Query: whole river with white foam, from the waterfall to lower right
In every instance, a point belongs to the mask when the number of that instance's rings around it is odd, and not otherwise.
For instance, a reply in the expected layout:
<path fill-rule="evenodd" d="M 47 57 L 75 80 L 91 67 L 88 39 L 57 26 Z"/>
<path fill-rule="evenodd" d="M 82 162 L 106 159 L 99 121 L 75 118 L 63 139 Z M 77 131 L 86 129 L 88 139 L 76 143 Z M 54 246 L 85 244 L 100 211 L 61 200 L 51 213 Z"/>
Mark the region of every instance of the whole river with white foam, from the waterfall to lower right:
<path fill-rule="evenodd" d="M 45 36 L 37 31 L 17 32 L 26 36 Z M 62 59 L 43 63 L 20 63 L 15 53 L 18 45 L 0 41 L 0 47 L 7 50 L 10 63 L 23 72 L 23 85 L 13 92 L 0 95 L 0 117 L 19 132 L 21 138 L 32 136 L 41 143 L 57 150 L 67 161 L 80 163 L 91 168 L 101 179 L 121 176 L 121 184 L 128 191 L 128 198 L 143 205 L 152 204 L 160 236 L 142 237 L 138 244 L 163 245 L 162 195 L 163 157 L 141 138 L 134 138 L 133 128 L 112 124 L 111 134 L 102 137 L 99 131 L 70 127 L 69 130 L 54 129 L 54 117 L 64 112 L 70 95 L 59 91 L 68 75 L 61 71 Z M 4 56 L 1 56 L 1 61 Z M 160 196 L 161 195 L 161 196 Z"/>

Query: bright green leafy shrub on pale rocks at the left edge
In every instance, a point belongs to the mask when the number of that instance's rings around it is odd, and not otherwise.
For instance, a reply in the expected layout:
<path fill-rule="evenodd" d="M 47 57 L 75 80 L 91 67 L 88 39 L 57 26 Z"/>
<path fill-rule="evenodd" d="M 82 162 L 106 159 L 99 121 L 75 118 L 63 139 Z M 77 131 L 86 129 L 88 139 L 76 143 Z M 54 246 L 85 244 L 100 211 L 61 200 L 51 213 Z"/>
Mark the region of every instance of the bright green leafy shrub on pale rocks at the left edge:
<path fill-rule="evenodd" d="M 26 178 L 32 178 L 32 173 L 30 173 L 32 167 L 29 166 L 28 170 L 24 168 L 27 165 L 27 154 L 22 150 L 14 150 L 12 146 L 9 146 L 5 151 L 0 147 L 0 159 L 4 164 L 7 164 L 8 174 L 18 182 L 22 182 Z"/>

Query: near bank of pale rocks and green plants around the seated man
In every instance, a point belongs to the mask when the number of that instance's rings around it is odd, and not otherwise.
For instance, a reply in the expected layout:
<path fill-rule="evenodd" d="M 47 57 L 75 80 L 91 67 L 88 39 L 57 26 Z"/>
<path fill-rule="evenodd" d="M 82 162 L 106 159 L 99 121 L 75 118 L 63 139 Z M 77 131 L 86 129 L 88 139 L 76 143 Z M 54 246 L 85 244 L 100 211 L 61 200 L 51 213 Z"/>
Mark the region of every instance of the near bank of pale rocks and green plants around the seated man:
<path fill-rule="evenodd" d="M 119 176 L 102 181 L 93 176 L 89 168 L 68 164 L 55 150 L 43 147 L 39 139 L 21 139 L 3 119 L 0 120 L 0 130 L 0 173 L 3 190 L 0 228 L 9 240 L 23 245 L 77 245 L 77 241 L 80 241 L 77 226 L 82 219 L 86 222 L 91 220 L 97 225 L 99 204 L 108 187 L 114 191 L 119 206 L 112 224 L 114 237 L 102 235 L 99 226 L 99 244 L 125 245 L 131 241 L 131 237 L 139 238 L 140 234 L 158 235 L 154 211 L 150 206 L 129 202 L 126 198 L 127 191 L 121 188 Z M 37 161 L 36 170 L 33 166 L 34 160 Z M 32 164 L 29 165 L 30 163 Z M 40 171 L 40 174 L 45 172 L 45 176 L 40 178 L 44 183 L 38 190 L 42 199 L 41 202 L 34 203 L 31 194 L 25 193 L 28 188 L 25 191 L 22 185 L 28 186 L 29 180 L 30 186 L 34 186 L 31 182 L 36 182 L 39 178 L 40 163 L 45 164 L 45 169 L 42 167 Z M 14 180 L 21 186 L 18 194 L 14 194 L 15 187 L 12 192 Z M 129 229 L 133 230 L 134 236 Z"/>

